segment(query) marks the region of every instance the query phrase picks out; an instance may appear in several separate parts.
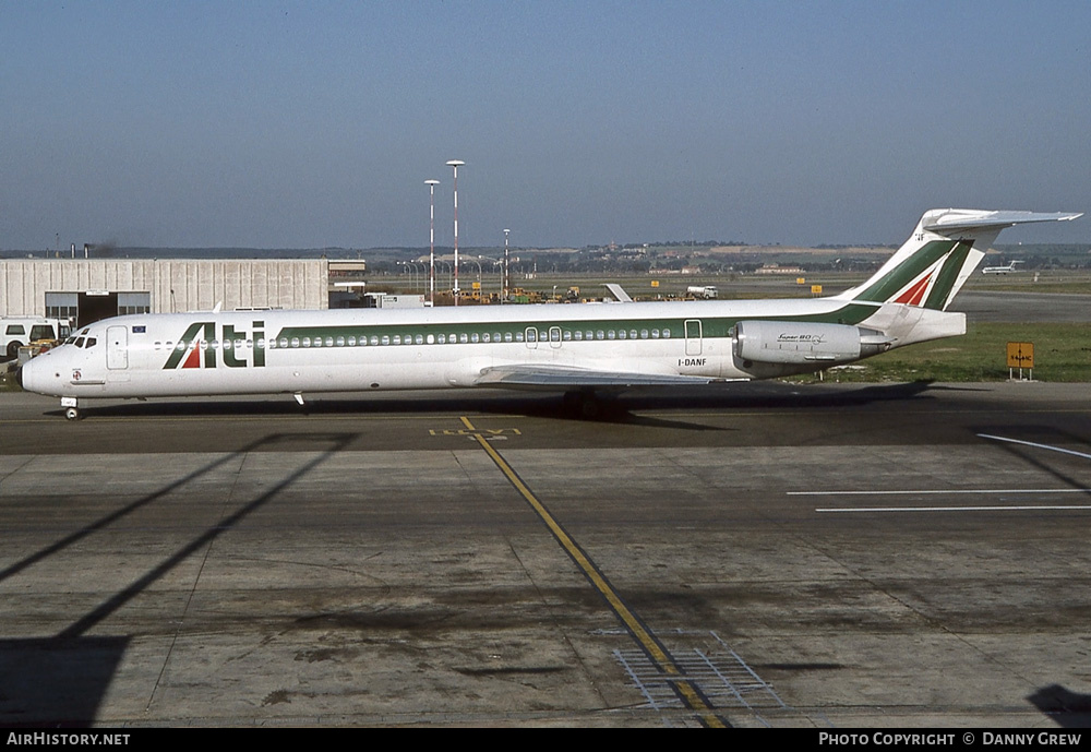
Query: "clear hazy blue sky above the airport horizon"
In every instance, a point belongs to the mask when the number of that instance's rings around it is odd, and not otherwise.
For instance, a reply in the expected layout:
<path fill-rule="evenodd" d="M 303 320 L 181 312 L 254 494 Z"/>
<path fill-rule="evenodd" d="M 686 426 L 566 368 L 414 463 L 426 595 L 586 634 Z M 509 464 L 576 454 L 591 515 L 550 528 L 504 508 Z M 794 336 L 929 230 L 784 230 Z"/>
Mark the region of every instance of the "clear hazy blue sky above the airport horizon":
<path fill-rule="evenodd" d="M 0 248 L 895 243 L 1091 210 L 1091 3 L 0 0 Z M 1004 241 L 1091 241 L 1091 219 Z"/>

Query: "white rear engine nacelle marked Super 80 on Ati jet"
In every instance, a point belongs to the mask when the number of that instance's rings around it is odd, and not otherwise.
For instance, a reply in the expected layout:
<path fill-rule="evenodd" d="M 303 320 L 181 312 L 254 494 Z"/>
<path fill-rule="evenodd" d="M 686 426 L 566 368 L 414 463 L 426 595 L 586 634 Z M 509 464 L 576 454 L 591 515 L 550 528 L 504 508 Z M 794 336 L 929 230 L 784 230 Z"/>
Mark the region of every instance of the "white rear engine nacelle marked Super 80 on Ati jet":
<path fill-rule="evenodd" d="M 848 324 L 740 321 L 735 356 L 760 363 L 851 362 L 888 349 L 878 332 Z"/>

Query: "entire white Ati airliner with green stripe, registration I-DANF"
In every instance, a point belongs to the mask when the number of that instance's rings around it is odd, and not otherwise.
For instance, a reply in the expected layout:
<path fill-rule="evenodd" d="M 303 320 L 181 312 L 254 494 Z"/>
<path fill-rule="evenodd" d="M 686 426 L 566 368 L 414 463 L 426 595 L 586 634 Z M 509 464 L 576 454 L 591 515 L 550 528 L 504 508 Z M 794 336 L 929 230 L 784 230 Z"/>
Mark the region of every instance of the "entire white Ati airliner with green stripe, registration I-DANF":
<path fill-rule="evenodd" d="M 70 420 L 95 397 L 423 390 L 596 392 L 771 379 L 966 333 L 947 312 L 1005 227 L 1081 214 L 933 210 L 827 298 L 156 313 L 107 319 L 23 366 Z"/>

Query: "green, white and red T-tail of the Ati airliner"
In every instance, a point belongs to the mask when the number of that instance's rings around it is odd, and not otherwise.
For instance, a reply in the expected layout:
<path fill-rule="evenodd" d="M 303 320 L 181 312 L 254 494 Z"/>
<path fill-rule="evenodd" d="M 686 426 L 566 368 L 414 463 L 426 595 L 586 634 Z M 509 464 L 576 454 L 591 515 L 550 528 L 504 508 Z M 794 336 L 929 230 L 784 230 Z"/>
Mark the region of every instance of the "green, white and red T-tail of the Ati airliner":
<path fill-rule="evenodd" d="M 1080 216 L 934 208 L 924 213 L 909 240 L 871 279 L 835 297 L 945 311 L 1005 227 Z"/>

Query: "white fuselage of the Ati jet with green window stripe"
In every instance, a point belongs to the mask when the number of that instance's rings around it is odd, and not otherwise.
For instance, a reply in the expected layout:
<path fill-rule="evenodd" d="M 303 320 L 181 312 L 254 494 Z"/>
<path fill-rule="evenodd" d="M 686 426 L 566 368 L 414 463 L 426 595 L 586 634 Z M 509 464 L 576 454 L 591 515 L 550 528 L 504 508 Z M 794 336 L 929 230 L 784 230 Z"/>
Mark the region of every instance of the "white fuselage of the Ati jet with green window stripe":
<path fill-rule="evenodd" d="M 80 330 L 27 363 L 22 381 L 59 397 L 156 397 L 471 386 L 513 363 L 766 379 L 830 358 L 740 357 L 740 321 L 854 329 L 878 308 L 818 299 L 140 314 Z"/>

